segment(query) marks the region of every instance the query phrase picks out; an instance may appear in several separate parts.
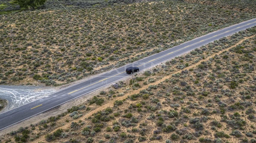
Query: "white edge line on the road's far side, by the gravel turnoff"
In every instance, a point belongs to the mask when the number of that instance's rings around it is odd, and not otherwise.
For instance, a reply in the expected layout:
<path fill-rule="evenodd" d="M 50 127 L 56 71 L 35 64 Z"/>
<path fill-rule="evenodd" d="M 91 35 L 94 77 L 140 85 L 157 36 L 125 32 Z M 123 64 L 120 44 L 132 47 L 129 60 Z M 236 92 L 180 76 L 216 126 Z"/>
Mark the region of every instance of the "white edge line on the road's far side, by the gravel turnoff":
<path fill-rule="evenodd" d="M 253 19 L 250 19 L 250 20 L 247 20 L 247 21 L 243 21 L 243 22 L 240 22 L 240 23 L 231 25 L 231 26 L 229 26 L 229 27 L 226 27 L 226 28 L 224 28 L 224 29 L 227 29 L 227 28 L 230 28 L 230 27 L 234 27 L 234 26 L 236 26 L 236 25 L 243 24 L 243 23 L 246 23 L 246 22 L 255 20 L 255 19 L 256 19 L 256 18 L 253 18 Z M 255 26 L 255 25 L 254 25 L 254 26 Z M 252 27 L 253 27 L 253 26 L 252 26 Z M 248 27 L 248 28 L 250 28 L 250 27 Z M 222 31 L 222 30 L 224 30 L 224 29 L 216 30 L 216 31 L 214 31 L 214 32 L 210 32 L 210 33 L 208 33 L 208 34 L 206 34 L 206 35 L 202 35 L 202 36 L 200 36 L 200 37 L 198 37 L 198 38 L 202 38 L 202 37 L 204 37 L 204 36 L 213 34 L 213 33 L 215 33 L 215 32 Z M 245 28 L 245 29 L 247 29 L 247 28 Z M 243 30 L 244 30 L 244 29 L 243 29 Z M 240 31 L 241 31 L 241 30 L 240 30 Z M 235 33 L 235 32 L 234 32 L 234 33 Z M 232 33 L 232 34 L 233 34 L 233 33 Z M 228 35 L 227 35 L 227 36 L 228 36 Z M 225 37 L 225 36 L 224 36 L 224 37 Z M 184 43 L 181 43 L 180 45 L 183 45 L 183 44 L 185 44 L 185 43 L 194 41 L 194 40 L 196 40 L 196 39 L 198 39 L 198 38 L 195 38 L 195 39 L 186 41 L 186 42 L 184 42 Z M 218 40 L 218 39 L 216 39 L 216 40 Z M 212 42 L 212 41 L 211 41 L 211 42 Z M 209 42 L 209 43 L 210 43 L 210 42 Z M 180 46 L 180 45 L 177 45 L 177 46 Z M 164 51 L 161 51 L 161 52 L 165 52 L 165 51 L 167 51 L 167 50 L 169 50 L 169 49 L 172 49 L 172 48 L 175 48 L 175 47 L 177 47 L 177 46 L 168 48 L 168 49 L 166 49 L 166 50 L 164 50 Z M 159 53 L 161 53 L 161 52 L 159 52 Z M 156 54 L 159 54 L 159 53 L 156 53 Z M 153 55 L 156 55 L 156 54 L 153 54 Z M 151 57 L 151 56 L 153 56 L 153 55 L 150 55 L 150 56 L 148 56 L 148 57 Z M 142 59 L 140 59 L 140 60 L 143 60 L 143 59 L 148 58 L 148 57 L 144 57 L 144 58 L 142 58 Z M 139 62 L 140 60 L 134 61 L 134 62 L 132 62 L 132 63 Z M 132 64 L 132 63 L 129 63 L 129 64 Z M 124 68 L 124 67 L 125 67 L 125 66 L 122 66 L 122 67 L 119 67 L 118 69 L 121 69 L 121 68 Z M 117 69 L 115 69 L 115 70 L 117 70 Z M 112 72 L 112 71 L 109 71 L 109 72 Z M 103 73 L 103 74 L 107 74 L 107 73 L 109 73 L 109 72 L 106 72 L 106 73 Z M 103 75 L 103 74 L 100 74 L 100 75 L 98 75 L 98 76 L 96 76 L 96 77 L 99 77 L 99 76 L 101 76 L 101 75 Z M 96 78 L 96 77 L 93 77 L 93 78 Z M 93 78 L 91 78 L 91 79 L 93 79 Z M 91 80 L 91 79 L 88 79 L 88 80 Z M 88 81 L 88 80 L 82 81 L 82 82 L 80 82 L 80 83 L 86 82 L 86 81 Z M 76 86 L 76 85 L 78 85 L 78 84 L 80 84 L 80 83 L 77 83 L 77 84 L 75 84 L 75 85 L 73 85 L 73 86 Z M 69 87 L 67 87 L 67 88 L 70 88 L 70 87 L 72 87 L 72 86 L 69 86 Z M 64 89 L 67 89 L 67 88 L 64 88 Z M 59 91 L 62 91 L 62 90 L 64 90 L 64 89 L 61 89 L 61 90 L 59 90 Z M 57 92 L 59 92 L 59 91 L 56 91 L 56 92 L 54 92 L 54 93 L 52 93 L 52 94 L 55 94 L 55 93 L 57 93 Z M 51 95 L 51 94 L 49 94 L 49 95 Z M 49 95 L 46 95 L 46 96 L 49 96 Z M 43 96 L 43 97 L 46 97 L 46 96 Z M 43 97 L 41 97 L 41 98 L 43 98 Z M 39 100 L 39 99 L 41 99 L 41 98 L 38 98 L 38 99 L 36 99 L 36 100 Z M 31 102 L 34 102 L 34 101 L 36 101 L 36 100 L 33 100 L 33 101 L 31 101 Z M 31 103 L 31 102 L 28 102 L 28 103 Z M 26 104 L 28 104 L 28 103 L 26 103 Z M 26 105 L 26 104 L 23 104 L 23 105 Z M 21 107 L 21 106 L 23 106 L 23 105 L 20 105 L 20 106 L 18 106 L 18 107 Z M 18 108 L 18 107 L 16 107 L 16 108 Z M 15 108 L 13 108 L 13 109 L 15 109 Z M 13 110 L 13 109 L 10 109 L 10 110 L 8 110 L 8 111 L 11 111 L 11 110 Z M 7 111 L 5 111 L 5 112 L 7 112 Z M 3 112 L 3 113 L 5 113 L 5 112 Z M 3 113 L 0 113 L 0 114 L 3 114 Z"/>

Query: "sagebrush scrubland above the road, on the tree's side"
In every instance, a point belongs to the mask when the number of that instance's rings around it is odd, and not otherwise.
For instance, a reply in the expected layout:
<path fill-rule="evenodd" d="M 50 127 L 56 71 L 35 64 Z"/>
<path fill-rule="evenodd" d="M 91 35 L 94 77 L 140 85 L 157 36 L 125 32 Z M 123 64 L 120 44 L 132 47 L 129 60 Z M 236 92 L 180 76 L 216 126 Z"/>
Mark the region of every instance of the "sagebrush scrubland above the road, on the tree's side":
<path fill-rule="evenodd" d="M 1 1 L 5 12 L 20 10 Z M 255 1 L 48 0 L 0 17 L 0 84 L 60 86 L 255 18 Z"/>

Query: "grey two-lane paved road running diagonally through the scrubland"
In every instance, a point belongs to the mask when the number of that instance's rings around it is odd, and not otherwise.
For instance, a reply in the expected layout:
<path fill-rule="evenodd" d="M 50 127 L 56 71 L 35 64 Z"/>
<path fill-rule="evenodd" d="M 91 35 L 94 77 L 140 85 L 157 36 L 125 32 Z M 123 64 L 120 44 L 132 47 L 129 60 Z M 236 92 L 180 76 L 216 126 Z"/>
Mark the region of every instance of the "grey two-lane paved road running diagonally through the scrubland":
<path fill-rule="evenodd" d="M 136 66 L 136 67 L 139 67 L 141 71 L 151 66 L 154 66 L 156 64 L 159 64 L 165 60 L 181 55 L 187 51 L 195 49 L 199 46 L 205 45 L 214 40 L 230 35 L 234 32 L 238 32 L 240 30 L 243 30 L 255 25 L 256 25 L 256 19 L 252 19 L 250 21 L 236 24 L 234 26 L 210 33 L 208 35 L 204 35 L 192 41 L 188 41 L 186 43 L 180 44 L 173 48 L 167 49 L 163 52 L 159 52 L 155 55 L 138 60 L 134 63 L 130 63 L 116 70 L 110 71 L 105 74 L 101 74 L 97 77 L 91 78 L 90 80 L 86 80 L 79 84 L 70 86 L 58 92 L 50 94 L 46 97 L 42 97 L 38 100 L 34 100 L 25 105 L 22 105 L 12 110 L 1 113 L 0 114 L 0 130 L 7 128 L 11 125 L 14 125 L 15 123 L 21 122 L 25 119 L 28 119 L 32 116 L 40 114 L 53 107 L 61 105 L 65 102 L 73 100 L 77 97 L 86 95 L 91 91 L 94 91 L 98 88 L 106 86 L 124 77 L 127 77 L 130 75 L 125 72 L 125 69 L 127 67 Z"/>

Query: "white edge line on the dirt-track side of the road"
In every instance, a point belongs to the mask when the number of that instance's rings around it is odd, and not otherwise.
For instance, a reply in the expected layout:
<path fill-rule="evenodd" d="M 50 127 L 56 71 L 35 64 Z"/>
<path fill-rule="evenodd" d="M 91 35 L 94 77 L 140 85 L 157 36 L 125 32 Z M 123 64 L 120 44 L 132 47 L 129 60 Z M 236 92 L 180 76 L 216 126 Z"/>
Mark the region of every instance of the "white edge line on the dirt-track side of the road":
<path fill-rule="evenodd" d="M 254 25 L 255 26 L 255 25 Z M 251 26 L 251 27 L 253 27 L 253 26 Z M 250 27 L 247 27 L 247 28 L 250 28 Z M 247 28 L 244 28 L 244 29 L 247 29 Z M 244 30 L 244 29 L 242 29 L 242 30 Z M 242 30 L 239 30 L 239 31 L 242 31 Z M 237 32 L 239 32 L 239 31 L 237 31 Z M 236 32 L 234 32 L 234 33 L 236 33 Z M 231 33 L 231 34 L 234 34 L 234 33 Z M 231 35 L 231 34 L 229 34 L 229 35 Z M 226 36 L 224 36 L 224 37 L 227 37 L 227 36 L 229 36 L 229 35 L 226 35 Z M 222 37 L 223 38 L 223 37 Z M 216 40 L 219 40 L 220 38 L 218 38 L 218 39 L 216 39 Z M 215 41 L 215 40 L 213 40 L 213 41 Z M 212 42 L 212 41 L 211 41 Z M 211 43 L 211 42 L 208 42 L 208 43 Z M 205 45 L 205 44 L 204 44 Z M 203 46 L 203 45 L 201 45 L 201 46 Z M 201 46 L 198 46 L 198 47 L 201 47 Z M 196 47 L 196 48 L 198 48 L 198 47 Z M 195 49 L 195 48 L 194 48 Z M 189 51 L 192 51 L 193 49 L 191 49 L 191 50 L 189 50 Z M 186 52 L 189 52 L 189 51 L 186 51 Z M 182 54 L 184 54 L 184 53 L 186 53 L 186 52 L 183 52 L 183 53 L 181 53 L 181 54 L 179 54 L 179 55 L 182 55 Z M 179 56 L 179 55 L 176 55 L 176 56 L 174 56 L 174 57 L 177 57 L 177 56 Z M 174 58 L 174 57 L 171 57 L 171 58 L 169 58 L 169 59 L 167 59 L 167 60 L 170 60 L 170 59 L 172 59 L 172 58 Z M 159 62 L 159 63 L 162 63 L 162 62 L 165 62 L 166 60 L 164 60 L 164 61 L 161 61 L 161 62 Z M 157 65 L 157 64 L 159 64 L 159 63 L 156 63 L 155 65 Z M 153 66 L 155 66 L 155 65 L 153 65 Z M 150 67 L 152 67 L 152 66 L 150 66 Z M 150 68 L 150 67 L 147 67 L 146 69 L 148 69 L 148 68 Z M 143 71 L 143 70 L 145 70 L 145 69 L 142 69 L 142 70 L 140 70 L 140 71 Z M 132 74 L 131 74 L 132 75 Z M 129 75 L 128 75 L 129 76 Z M 128 77 L 128 76 L 126 76 L 126 77 Z M 125 78 L 125 77 L 123 77 L 123 78 Z M 121 78 L 121 79 L 123 79 L 123 78 Z M 121 80 L 121 79 L 119 79 L 119 80 Z M 116 81 L 118 81 L 118 80 L 116 80 Z M 116 82 L 116 81 L 113 81 L 112 83 L 114 83 L 114 82 Z M 111 83 L 109 83 L 109 84 L 111 84 Z M 107 86 L 107 85 L 109 85 L 109 84 L 106 84 L 105 86 Z M 99 88 L 102 88 L 102 87 L 104 87 L 104 86 L 101 86 L 101 87 L 99 87 Z M 99 89 L 99 88 L 97 88 L 97 89 Z M 97 90 L 97 89 L 94 89 L 93 91 L 95 91 L 95 90 Z M 90 92 L 93 92 L 93 91 L 90 91 Z M 87 93 L 85 93 L 85 94 L 88 94 L 88 93 L 90 93 L 90 92 L 87 92 Z M 81 97 L 81 96 L 83 96 L 83 95 L 85 95 L 85 94 L 82 94 L 82 95 L 80 95 L 80 96 L 78 96 L 78 97 L 75 97 L 75 98 L 73 98 L 73 99 L 71 99 L 71 100 L 74 100 L 74 99 L 76 99 L 76 98 L 79 98 L 79 97 Z M 51 94 L 49 94 L 49 95 L 51 95 Z M 69 101 L 71 101 L 71 100 L 68 100 L 68 101 L 66 101 L 66 102 L 69 102 Z M 66 103 L 66 102 L 63 102 L 63 103 L 61 103 L 61 104 L 64 104 L 64 103 Z M 61 105 L 61 104 L 59 104 L 59 105 Z M 25 104 L 24 104 L 25 105 Z M 54 107 L 52 107 L 52 108 L 55 108 L 55 107 L 57 107 L 57 106 L 59 106 L 59 105 L 56 105 L 56 106 L 54 106 Z M 19 106 L 20 107 L 20 106 Z M 47 110 L 50 110 L 50 109 L 52 109 L 52 108 L 49 108 L 49 109 L 47 109 Z M 15 109 L 15 108 L 13 108 L 13 109 Z M 45 111 L 47 111 L 47 110 L 45 110 Z M 10 110 L 9 110 L 10 111 Z M 40 113 L 43 113 L 43 112 L 45 112 L 45 111 L 42 111 L 42 112 L 40 112 Z M 36 115 L 38 115 L 38 114 L 40 114 L 40 113 L 37 113 L 37 114 L 35 114 L 35 115 L 33 115 L 33 116 L 36 116 Z M 28 117 L 28 118 L 31 118 L 31 117 L 33 117 L 33 116 L 30 116 L 30 117 Z M 26 119 L 28 119 L 28 118 L 26 118 Z M 23 119 L 23 120 L 21 120 L 21 121 L 19 121 L 19 122 L 22 122 L 22 121 L 24 121 L 24 120 L 26 120 L 26 119 Z M 15 124 L 17 124 L 17 123 L 19 123 L 19 122 L 16 122 L 16 123 L 14 123 L 14 124 L 12 124 L 12 125 L 15 125 Z M 7 127 L 5 127 L 5 128 L 8 128 L 8 127 L 10 127 L 10 126 L 12 126 L 12 125 L 9 125 L 9 126 L 7 126 Z M 3 130 L 3 129 L 5 129 L 5 128 L 2 128 L 2 129 L 0 129 L 0 130 Z"/>

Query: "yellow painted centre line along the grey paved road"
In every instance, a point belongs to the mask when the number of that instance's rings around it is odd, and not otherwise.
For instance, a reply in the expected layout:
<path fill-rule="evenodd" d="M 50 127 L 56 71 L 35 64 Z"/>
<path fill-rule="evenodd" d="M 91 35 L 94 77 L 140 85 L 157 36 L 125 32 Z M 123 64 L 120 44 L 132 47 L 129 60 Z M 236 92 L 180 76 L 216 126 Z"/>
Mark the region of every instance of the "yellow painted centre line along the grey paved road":
<path fill-rule="evenodd" d="M 256 21 L 255 21 L 255 22 L 256 22 Z M 255 23 L 255 22 L 252 22 L 252 23 Z M 252 24 L 252 23 L 249 23 L 249 24 Z M 249 24 L 247 24 L 247 25 L 249 25 Z M 246 25 L 243 25 L 243 26 L 240 26 L 240 27 L 244 27 L 244 26 L 246 26 Z M 237 28 L 240 28 L 240 27 L 237 27 Z M 235 28 L 235 29 L 237 29 L 237 28 Z M 234 29 L 232 29 L 232 30 L 234 30 Z M 226 32 L 229 32 L 229 31 L 232 31 L 232 30 L 228 30 L 228 31 L 226 31 Z M 226 33 L 226 32 L 223 32 L 223 33 Z M 223 33 L 221 33 L 221 34 L 223 34 Z M 221 35 L 221 34 L 218 34 L 218 35 Z M 215 35 L 215 36 L 218 36 L 218 35 Z M 213 37 L 215 37 L 215 36 L 213 36 Z M 213 37 L 210 37 L 210 38 L 213 38 Z M 202 41 L 208 40 L 208 39 L 210 39 L 210 38 L 204 39 L 204 40 L 202 40 Z M 197 43 L 200 43 L 200 42 L 202 42 L 202 41 L 199 41 L 199 42 L 197 42 Z M 189 45 L 189 46 L 195 45 L 195 44 L 197 44 L 197 43 L 191 44 L 191 45 Z M 184 48 L 187 48 L 187 47 L 189 47 L 189 46 L 186 46 L 186 47 L 184 47 Z M 181 49 L 184 49 L 184 48 L 181 48 Z M 174 51 L 174 52 L 177 52 L 177 51 L 179 51 L 179 50 L 181 50 L 181 49 L 178 49 L 178 50 L 176 50 L 176 51 Z M 169 55 L 169 54 L 171 54 L 171 53 L 174 53 L 174 52 L 170 52 L 170 53 L 168 53 L 168 54 L 166 54 L 166 55 L 163 55 L 163 56 L 161 56 L 161 57 L 167 56 L 167 55 Z M 161 57 L 158 57 L 158 58 L 156 58 L 156 59 L 159 59 L 159 58 L 161 58 Z M 153 59 L 153 60 L 156 60 L 156 59 Z M 153 60 L 150 60 L 150 61 L 148 61 L 147 63 L 152 62 Z M 141 64 L 141 65 L 144 65 L 144 64 L 146 64 L 146 63 L 143 63 L 143 64 Z M 139 66 L 141 66 L 141 65 L 139 65 Z M 136 67 L 138 67 L 138 66 L 136 66 Z M 123 72 L 121 72 L 121 73 L 124 73 L 124 72 L 125 72 L 125 71 L 123 71 Z M 119 74 L 121 74 L 121 73 L 119 73 Z M 116 75 L 118 75 L 118 74 L 116 74 Z M 113 76 L 111 76 L 111 77 L 114 77 L 114 76 L 116 76 L 116 75 L 113 75 Z M 111 77 L 105 78 L 105 79 L 103 79 L 103 80 L 109 79 L 109 78 L 111 78 Z M 98 82 L 96 82 L 96 83 L 99 83 L 99 82 L 101 82 L 101 81 L 103 81 L 103 80 L 100 80 L 100 81 L 98 81 Z M 94 84 L 95 84 L 95 83 L 93 83 L 93 84 L 91 84 L 91 85 L 94 85 Z M 89 86 L 91 86 L 91 85 L 89 85 Z M 85 86 L 85 87 L 83 87 L 83 88 L 86 88 L 86 87 L 88 87 L 88 86 Z M 81 89 L 83 89 L 83 88 L 80 88 L 80 89 L 78 89 L 78 90 L 81 90 Z M 68 94 L 71 94 L 71 93 L 76 92 L 76 91 L 78 91 L 78 90 L 72 91 L 72 92 L 70 92 L 70 93 L 68 93 Z M 41 104 L 41 105 L 42 105 L 42 104 Z M 40 106 L 40 105 L 38 105 L 38 106 Z M 36 106 L 36 107 L 38 107 L 38 106 Z M 36 108 L 36 107 L 34 107 L 34 108 Z M 31 108 L 31 109 L 33 109 L 33 108 Z"/>

